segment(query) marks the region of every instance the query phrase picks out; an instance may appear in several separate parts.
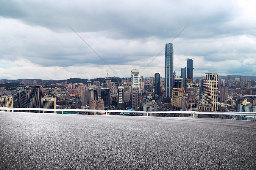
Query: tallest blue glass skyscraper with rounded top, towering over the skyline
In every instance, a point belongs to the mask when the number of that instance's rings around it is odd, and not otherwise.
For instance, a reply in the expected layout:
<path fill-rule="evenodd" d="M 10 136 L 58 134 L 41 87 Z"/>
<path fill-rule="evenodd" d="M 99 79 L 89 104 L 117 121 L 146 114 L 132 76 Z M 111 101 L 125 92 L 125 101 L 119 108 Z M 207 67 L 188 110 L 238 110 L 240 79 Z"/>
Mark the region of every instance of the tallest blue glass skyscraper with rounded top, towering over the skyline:
<path fill-rule="evenodd" d="M 173 44 L 165 44 L 165 96 L 171 97 L 173 88 Z"/>

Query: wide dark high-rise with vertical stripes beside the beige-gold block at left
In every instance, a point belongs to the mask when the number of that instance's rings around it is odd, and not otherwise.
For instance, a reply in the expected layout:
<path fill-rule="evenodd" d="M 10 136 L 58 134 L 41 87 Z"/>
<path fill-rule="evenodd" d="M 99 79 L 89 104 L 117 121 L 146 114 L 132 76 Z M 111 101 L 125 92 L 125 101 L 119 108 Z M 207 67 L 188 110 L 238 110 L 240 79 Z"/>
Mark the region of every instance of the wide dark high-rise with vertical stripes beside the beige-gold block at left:
<path fill-rule="evenodd" d="M 43 108 L 43 86 L 26 86 L 28 108 Z M 38 111 L 29 111 L 38 112 Z"/>

